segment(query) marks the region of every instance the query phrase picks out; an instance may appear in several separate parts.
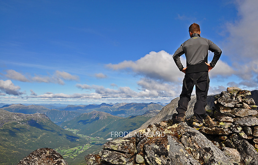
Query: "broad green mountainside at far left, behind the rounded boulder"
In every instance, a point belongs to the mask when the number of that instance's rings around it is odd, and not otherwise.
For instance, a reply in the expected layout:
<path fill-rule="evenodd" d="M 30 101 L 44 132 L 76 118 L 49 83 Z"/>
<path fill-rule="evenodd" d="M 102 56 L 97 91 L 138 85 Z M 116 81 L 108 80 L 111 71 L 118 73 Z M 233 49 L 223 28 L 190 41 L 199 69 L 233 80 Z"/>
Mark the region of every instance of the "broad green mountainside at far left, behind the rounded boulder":
<path fill-rule="evenodd" d="M 60 128 L 45 114 L 13 113 L 0 109 L 0 164 L 17 164 L 38 148 L 73 148 L 86 139 Z"/>

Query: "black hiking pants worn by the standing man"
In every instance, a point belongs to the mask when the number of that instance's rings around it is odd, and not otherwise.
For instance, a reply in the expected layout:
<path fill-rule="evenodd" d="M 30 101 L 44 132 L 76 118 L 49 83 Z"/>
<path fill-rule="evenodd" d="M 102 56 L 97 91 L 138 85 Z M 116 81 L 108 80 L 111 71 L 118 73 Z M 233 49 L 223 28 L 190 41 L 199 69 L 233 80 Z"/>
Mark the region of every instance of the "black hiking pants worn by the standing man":
<path fill-rule="evenodd" d="M 193 80 L 196 80 L 195 82 Z M 207 95 L 209 90 L 208 72 L 186 73 L 183 81 L 182 93 L 178 100 L 177 120 L 185 120 L 188 102 L 191 100 L 193 87 L 195 85 L 196 103 L 194 105 L 194 122 L 202 123 L 206 114 L 205 106 L 207 105 Z"/>

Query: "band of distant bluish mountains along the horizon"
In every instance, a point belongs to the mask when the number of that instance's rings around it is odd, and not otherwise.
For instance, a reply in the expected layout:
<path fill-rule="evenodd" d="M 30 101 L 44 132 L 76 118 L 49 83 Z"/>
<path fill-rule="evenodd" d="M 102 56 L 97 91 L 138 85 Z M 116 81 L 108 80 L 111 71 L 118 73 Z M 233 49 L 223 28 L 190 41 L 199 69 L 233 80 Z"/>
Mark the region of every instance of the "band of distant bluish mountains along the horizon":
<path fill-rule="evenodd" d="M 26 106 L 23 104 L 5 104 L 1 107 L 1 109 L 9 112 L 24 114 L 46 114 L 53 122 L 63 122 L 69 121 L 80 114 L 89 113 L 92 111 L 101 111 L 115 116 L 128 117 L 132 115 L 142 115 L 149 110 L 161 110 L 163 107 L 162 105 L 156 103 L 119 103 L 115 105 L 102 103 L 100 105 L 68 105 L 57 109 L 49 109 L 45 106 L 47 105 Z"/>

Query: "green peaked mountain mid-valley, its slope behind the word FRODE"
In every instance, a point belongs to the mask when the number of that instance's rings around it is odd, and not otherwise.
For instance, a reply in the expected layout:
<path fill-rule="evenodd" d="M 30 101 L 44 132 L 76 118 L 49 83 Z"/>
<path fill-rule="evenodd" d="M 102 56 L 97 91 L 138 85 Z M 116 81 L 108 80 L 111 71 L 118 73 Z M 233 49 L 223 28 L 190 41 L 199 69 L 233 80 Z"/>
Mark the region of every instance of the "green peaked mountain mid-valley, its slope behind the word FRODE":
<path fill-rule="evenodd" d="M 112 132 L 131 132 L 139 128 L 150 118 L 158 114 L 160 110 L 151 110 L 143 115 L 129 116 L 127 118 L 114 116 L 105 112 L 92 111 L 63 122 L 60 126 L 64 128 L 79 129 L 77 132 L 83 135 L 98 136 L 107 138 L 117 138 L 112 136 Z M 121 134 L 122 135 L 122 134 Z"/>

